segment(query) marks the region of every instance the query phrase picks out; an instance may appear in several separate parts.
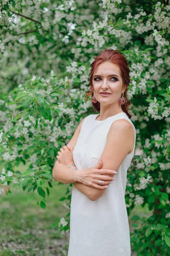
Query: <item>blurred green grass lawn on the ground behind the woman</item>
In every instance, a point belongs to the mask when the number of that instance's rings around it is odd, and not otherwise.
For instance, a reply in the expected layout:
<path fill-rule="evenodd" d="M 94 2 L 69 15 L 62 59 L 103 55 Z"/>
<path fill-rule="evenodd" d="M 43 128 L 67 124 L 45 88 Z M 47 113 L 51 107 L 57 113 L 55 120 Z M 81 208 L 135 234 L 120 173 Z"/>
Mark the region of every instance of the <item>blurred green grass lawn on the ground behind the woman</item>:
<path fill-rule="evenodd" d="M 69 212 L 59 201 L 67 186 L 53 182 L 49 197 L 45 196 L 48 201 L 45 210 L 35 199 L 28 203 L 33 192 L 23 192 L 21 188 L 11 188 L 11 195 L 0 195 L 0 256 L 67 256 L 69 232 L 60 233 L 57 226 L 51 227 Z M 130 226 L 131 216 L 148 214 L 151 212 L 147 206 L 136 206 L 129 216 Z"/>

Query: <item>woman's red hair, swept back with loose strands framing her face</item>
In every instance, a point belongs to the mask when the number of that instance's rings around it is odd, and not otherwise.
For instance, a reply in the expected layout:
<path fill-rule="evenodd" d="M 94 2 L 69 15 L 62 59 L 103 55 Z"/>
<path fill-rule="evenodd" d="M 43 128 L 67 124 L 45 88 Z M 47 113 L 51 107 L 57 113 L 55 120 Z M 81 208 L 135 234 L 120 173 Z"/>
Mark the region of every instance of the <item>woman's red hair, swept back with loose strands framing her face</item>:
<path fill-rule="evenodd" d="M 127 59 L 119 50 L 113 50 L 111 48 L 100 51 L 100 54 L 94 59 L 95 60 L 91 64 L 91 71 L 90 71 L 91 88 L 88 91 L 88 94 L 85 95 L 85 99 L 87 99 L 87 96 L 89 95 L 92 95 L 92 96 L 94 95 L 93 76 L 96 68 L 99 66 L 99 64 L 104 63 L 105 61 L 109 61 L 119 66 L 123 85 L 126 87 L 124 92 L 125 104 L 121 105 L 121 107 L 122 107 L 122 111 L 125 112 L 129 118 L 131 118 L 132 115 L 128 112 L 128 108 L 127 108 L 130 105 L 130 102 L 127 98 L 127 88 L 129 87 L 129 84 L 131 82 L 130 75 L 129 75 L 130 69 L 128 67 L 129 63 L 127 62 Z M 98 101 L 96 103 L 92 102 L 92 107 L 96 112 L 100 111 L 100 102 Z"/>

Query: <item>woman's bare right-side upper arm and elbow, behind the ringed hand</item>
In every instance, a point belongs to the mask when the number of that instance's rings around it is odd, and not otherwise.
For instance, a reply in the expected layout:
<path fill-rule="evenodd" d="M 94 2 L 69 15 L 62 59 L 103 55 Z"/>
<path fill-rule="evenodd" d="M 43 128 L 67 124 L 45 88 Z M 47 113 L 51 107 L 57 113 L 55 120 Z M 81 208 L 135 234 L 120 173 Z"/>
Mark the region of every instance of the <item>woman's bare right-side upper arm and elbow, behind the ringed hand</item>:
<path fill-rule="evenodd" d="M 71 142 L 69 142 L 69 145 L 72 146 Z M 103 160 L 102 169 L 110 169 L 117 172 L 126 155 L 130 153 L 132 145 L 134 145 L 134 131 L 130 122 L 125 119 L 113 122 L 108 131 L 106 145 L 100 157 Z M 100 198 L 105 192 L 105 189 L 96 189 L 80 182 L 73 182 L 73 185 L 92 201 Z"/>

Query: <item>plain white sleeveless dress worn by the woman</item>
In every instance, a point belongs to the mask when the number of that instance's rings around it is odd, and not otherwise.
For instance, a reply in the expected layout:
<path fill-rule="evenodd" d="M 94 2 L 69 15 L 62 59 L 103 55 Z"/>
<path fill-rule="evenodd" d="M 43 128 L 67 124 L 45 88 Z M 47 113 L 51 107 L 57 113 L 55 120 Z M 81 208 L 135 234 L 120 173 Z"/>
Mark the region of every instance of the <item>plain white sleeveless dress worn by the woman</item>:
<path fill-rule="evenodd" d="M 136 131 L 124 112 L 110 116 L 103 121 L 96 120 L 99 114 L 87 116 L 73 150 L 74 163 L 78 169 L 96 166 L 105 148 L 111 124 L 118 119 L 126 119 Z M 109 184 L 104 194 L 96 201 L 72 186 L 70 241 L 68 256 L 130 256 L 130 230 L 125 204 L 127 169 L 134 155 L 127 154 L 116 180 Z"/>

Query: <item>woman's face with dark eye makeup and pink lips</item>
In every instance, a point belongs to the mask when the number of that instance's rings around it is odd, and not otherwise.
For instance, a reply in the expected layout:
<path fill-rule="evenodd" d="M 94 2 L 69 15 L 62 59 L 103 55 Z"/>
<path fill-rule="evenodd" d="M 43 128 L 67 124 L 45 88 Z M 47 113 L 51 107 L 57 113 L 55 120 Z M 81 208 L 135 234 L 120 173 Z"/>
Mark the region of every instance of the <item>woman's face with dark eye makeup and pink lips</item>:
<path fill-rule="evenodd" d="M 119 67 L 116 64 L 108 61 L 99 64 L 95 70 L 93 86 L 96 100 L 103 105 L 119 102 L 122 93 L 125 91 L 125 87 L 123 88 Z M 108 97 L 104 97 L 99 94 L 102 91 L 111 94 Z"/>

